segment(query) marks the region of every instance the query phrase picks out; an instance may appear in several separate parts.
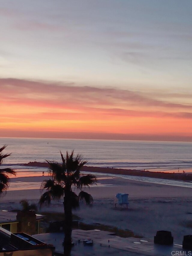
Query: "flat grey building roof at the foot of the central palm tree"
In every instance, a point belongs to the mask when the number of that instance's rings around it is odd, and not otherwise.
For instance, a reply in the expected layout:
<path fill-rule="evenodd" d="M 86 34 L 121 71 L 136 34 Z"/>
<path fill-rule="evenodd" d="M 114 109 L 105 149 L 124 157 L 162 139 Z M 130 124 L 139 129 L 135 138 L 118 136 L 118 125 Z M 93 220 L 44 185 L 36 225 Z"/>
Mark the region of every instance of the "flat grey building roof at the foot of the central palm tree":
<path fill-rule="evenodd" d="M 46 233 L 33 235 L 33 237 L 43 240 L 48 244 L 55 246 L 56 253 L 63 253 L 63 233 Z M 178 255 L 183 252 L 182 245 L 159 245 L 154 244 L 152 239 L 143 240 L 136 237 L 119 237 L 115 233 L 102 230 L 80 230 L 72 231 L 74 246 L 72 247 L 73 256 L 82 255 L 110 255 L 110 256 L 163 256 L 171 255 L 172 251 L 179 251 Z M 78 241 L 80 239 L 80 241 Z M 93 240 L 93 246 L 86 246 L 84 239 Z M 187 253 L 187 252 L 186 252 Z M 53 254 L 54 255 L 54 254 Z M 187 254 L 185 254 L 187 255 Z"/>

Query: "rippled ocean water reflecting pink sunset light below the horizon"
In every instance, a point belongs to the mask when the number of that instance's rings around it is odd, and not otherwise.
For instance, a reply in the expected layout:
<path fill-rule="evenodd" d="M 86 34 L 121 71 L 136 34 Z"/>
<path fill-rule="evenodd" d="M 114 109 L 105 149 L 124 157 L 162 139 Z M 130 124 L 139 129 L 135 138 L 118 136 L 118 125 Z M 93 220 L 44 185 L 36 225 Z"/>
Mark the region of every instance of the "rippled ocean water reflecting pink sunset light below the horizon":
<path fill-rule="evenodd" d="M 25 173 L 19 176 L 34 176 L 38 173 L 41 175 L 44 170 L 44 168 L 26 167 L 20 164 L 30 161 L 45 162 L 46 159 L 60 162 L 60 151 L 65 155 L 66 151 L 72 150 L 75 154 L 79 153 L 83 156 L 87 166 L 164 172 L 192 170 L 191 142 L 0 138 L 0 146 L 4 144 L 7 145 L 4 152 L 11 155 L 3 166 L 13 168 L 17 174 Z M 192 187 L 191 183 L 182 181 L 135 176 L 122 176 L 122 178 Z"/>

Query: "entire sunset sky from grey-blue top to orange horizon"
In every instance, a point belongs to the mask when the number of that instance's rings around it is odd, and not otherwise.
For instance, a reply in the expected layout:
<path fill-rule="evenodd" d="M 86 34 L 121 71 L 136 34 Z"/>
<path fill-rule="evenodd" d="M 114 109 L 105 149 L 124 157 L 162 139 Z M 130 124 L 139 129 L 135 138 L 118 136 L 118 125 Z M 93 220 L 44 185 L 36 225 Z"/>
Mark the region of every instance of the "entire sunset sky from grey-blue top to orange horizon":
<path fill-rule="evenodd" d="M 191 0 L 0 0 L 0 137 L 192 141 Z"/>

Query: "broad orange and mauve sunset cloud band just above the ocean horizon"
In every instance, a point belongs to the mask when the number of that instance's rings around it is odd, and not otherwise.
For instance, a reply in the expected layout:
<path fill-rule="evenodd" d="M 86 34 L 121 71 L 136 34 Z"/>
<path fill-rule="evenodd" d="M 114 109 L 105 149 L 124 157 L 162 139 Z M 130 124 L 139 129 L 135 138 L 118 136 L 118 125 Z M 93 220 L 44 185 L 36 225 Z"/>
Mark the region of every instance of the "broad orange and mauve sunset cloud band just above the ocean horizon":
<path fill-rule="evenodd" d="M 0 79 L 0 88 L 1 136 L 192 139 L 192 105 L 179 94 L 165 101 L 158 94 L 17 79 Z"/>

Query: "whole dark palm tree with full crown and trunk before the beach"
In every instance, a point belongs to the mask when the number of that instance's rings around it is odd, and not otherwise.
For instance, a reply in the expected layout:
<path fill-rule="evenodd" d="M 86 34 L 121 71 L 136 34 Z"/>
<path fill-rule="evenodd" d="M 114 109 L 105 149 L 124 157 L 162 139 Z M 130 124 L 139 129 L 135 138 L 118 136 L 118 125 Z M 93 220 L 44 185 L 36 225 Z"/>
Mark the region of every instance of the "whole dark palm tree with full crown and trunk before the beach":
<path fill-rule="evenodd" d="M 92 196 L 82 191 L 82 188 L 96 184 L 97 180 L 95 175 L 81 175 L 80 169 L 86 164 L 86 161 L 82 161 L 82 156 L 74 156 L 72 151 L 70 155 L 67 152 L 65 158 L 61 154 L 61 159 L 61 164 L 46 160 L 49 164 L 48 173 L 52 176 L 52 179 L 42 182 L 41 189 L 46 190 L 46 192 L 41 195 L 39 204 L 41 207 L 44 203 L 49 204 L 51 200 L 57 201 L 64 198 L 64 255 L 70 256 L 72 209 L 78 208 L 80 201 L 85 202 L 87 205 L 93 203 Z M 75 188 L 80 190 L 78 195 L 73 191 Z"/>

